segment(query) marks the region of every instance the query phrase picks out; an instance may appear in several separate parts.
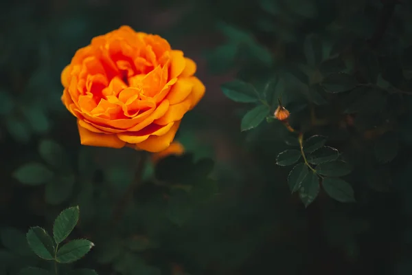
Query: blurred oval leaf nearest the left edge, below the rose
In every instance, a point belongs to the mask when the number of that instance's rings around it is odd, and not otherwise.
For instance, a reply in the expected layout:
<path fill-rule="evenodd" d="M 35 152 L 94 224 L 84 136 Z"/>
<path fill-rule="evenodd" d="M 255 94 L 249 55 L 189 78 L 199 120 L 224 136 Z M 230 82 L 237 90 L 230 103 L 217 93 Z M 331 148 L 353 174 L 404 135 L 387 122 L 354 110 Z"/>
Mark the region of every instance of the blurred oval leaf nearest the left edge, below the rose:
<path fill-rule="evenodd" d="M 22 184 L 39 185 L 52 179 L 53 172 L 44 164 L 30 162 L 17 168 L 13 173 L 13 177 Z"/>

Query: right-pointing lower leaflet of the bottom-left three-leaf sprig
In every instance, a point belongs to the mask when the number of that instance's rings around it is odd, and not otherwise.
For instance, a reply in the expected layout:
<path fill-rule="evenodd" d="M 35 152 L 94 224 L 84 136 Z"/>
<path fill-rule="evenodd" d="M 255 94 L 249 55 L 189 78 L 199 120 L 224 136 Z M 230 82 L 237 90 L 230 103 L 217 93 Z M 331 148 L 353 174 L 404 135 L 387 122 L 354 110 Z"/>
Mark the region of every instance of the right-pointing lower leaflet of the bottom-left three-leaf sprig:
<path fill-rule="evenodd" d="M 70 241 L 63 245 L 57 252 L 58 263 L 72 263 L 86 255 L 94 244 L 86 239 Z"/>

